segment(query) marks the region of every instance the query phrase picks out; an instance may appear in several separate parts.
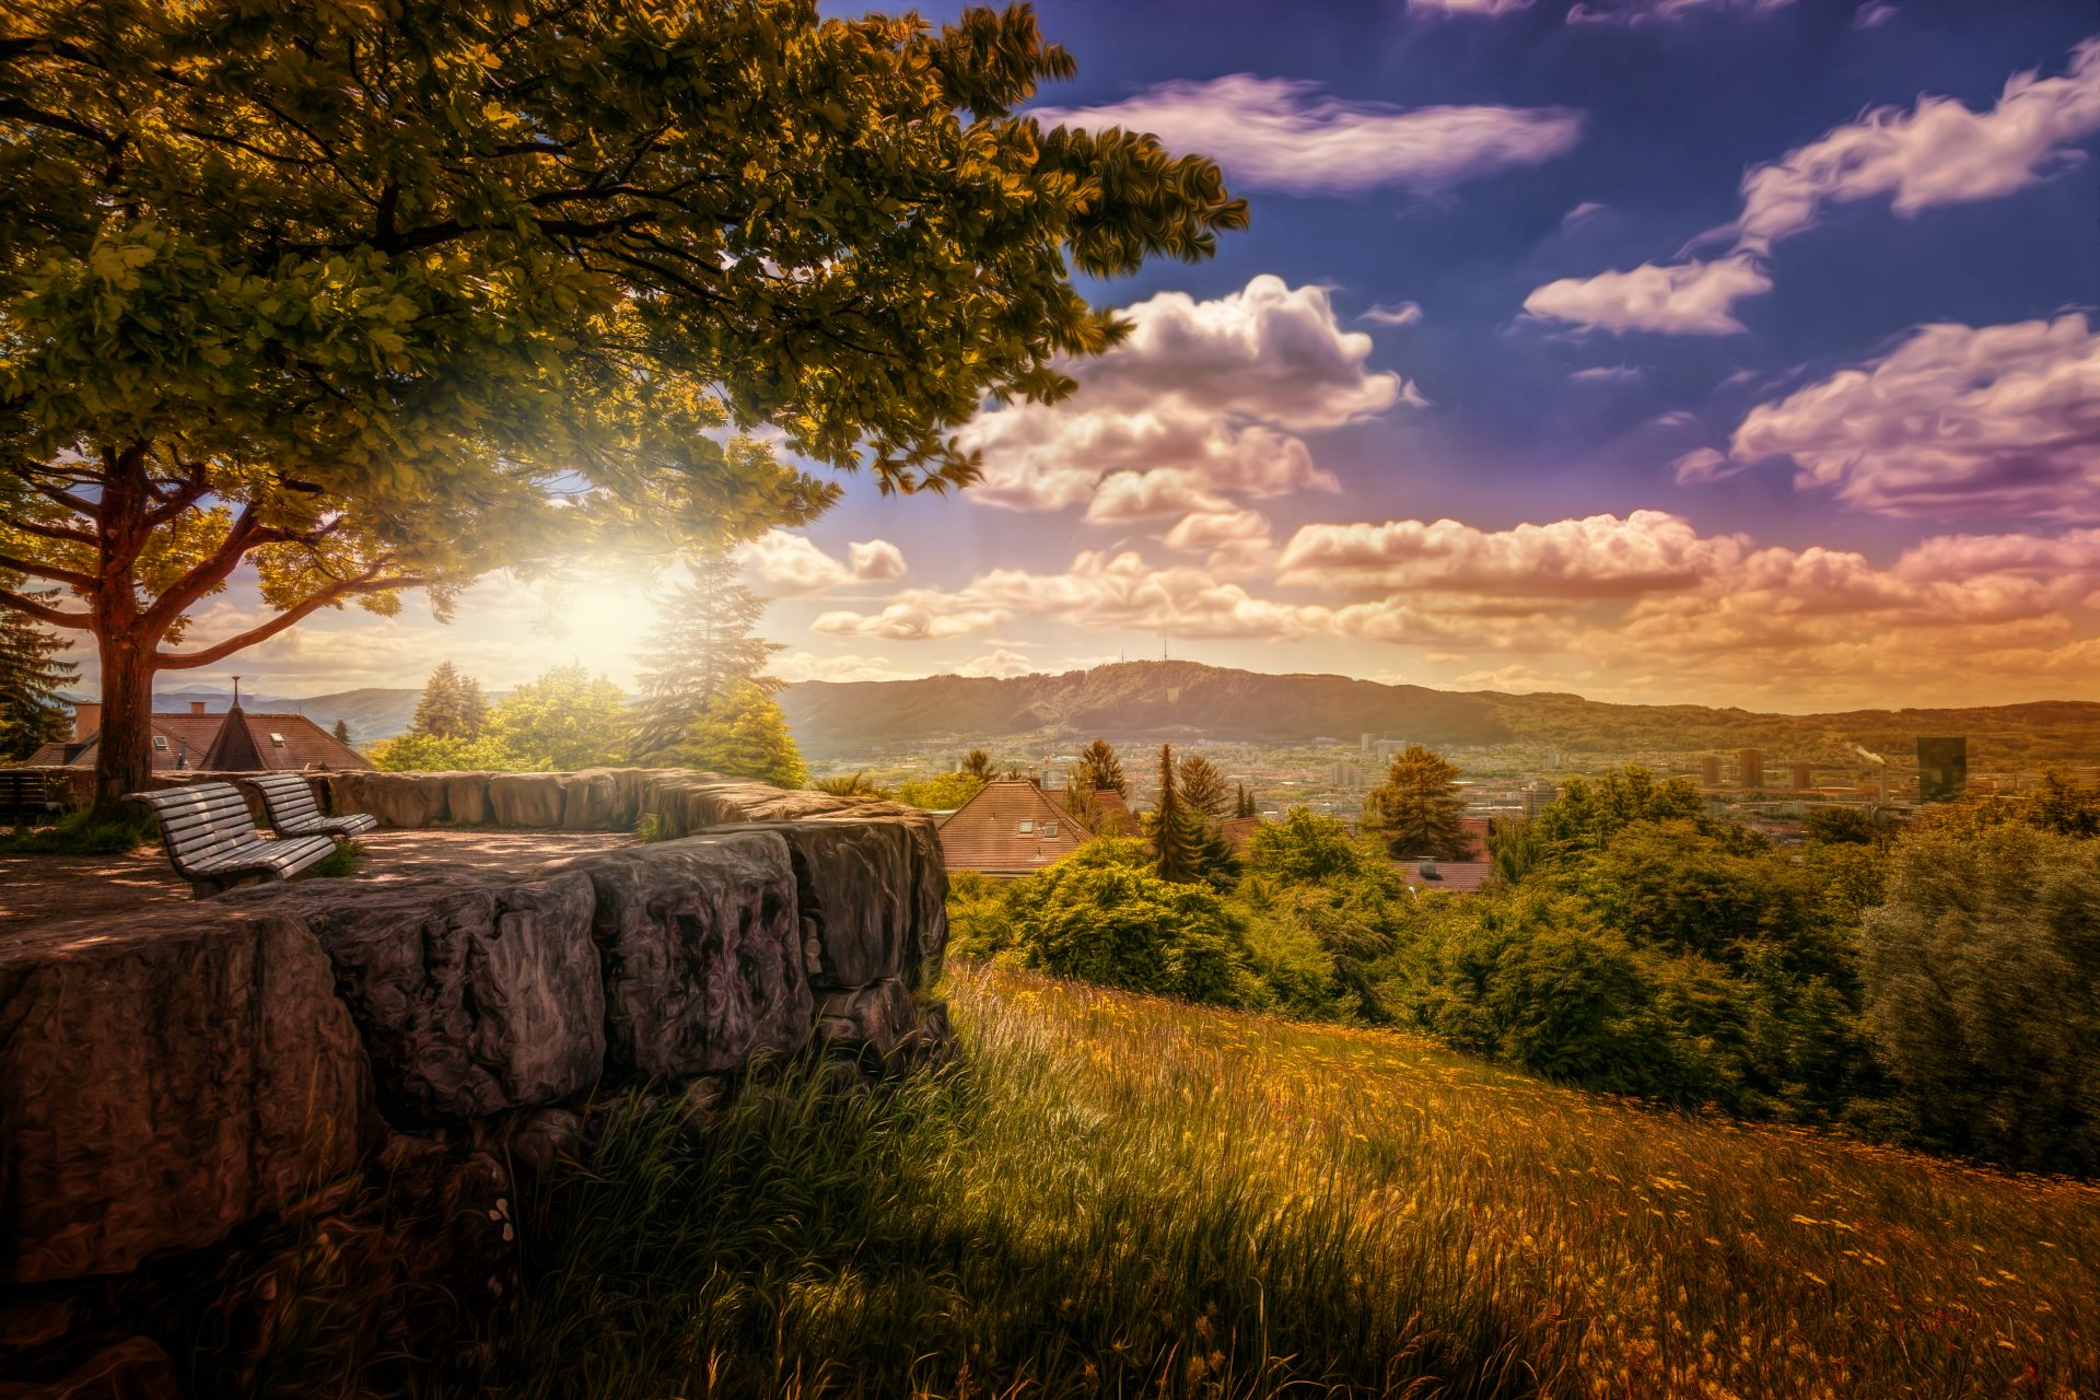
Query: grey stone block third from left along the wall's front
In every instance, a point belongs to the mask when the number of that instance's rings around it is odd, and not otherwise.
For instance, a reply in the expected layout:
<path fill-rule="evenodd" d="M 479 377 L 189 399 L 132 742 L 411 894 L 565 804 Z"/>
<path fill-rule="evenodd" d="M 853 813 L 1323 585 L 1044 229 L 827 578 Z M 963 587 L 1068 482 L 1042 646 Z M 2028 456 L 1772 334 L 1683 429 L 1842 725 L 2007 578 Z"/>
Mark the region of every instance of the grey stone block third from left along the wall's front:
<path fill-rule="evenodd" d="M 596 890 L 611 1066 L 687 1079 L 808 1039 L 794 863 L 777 833 L 695 835 L 559 869 Z"/>

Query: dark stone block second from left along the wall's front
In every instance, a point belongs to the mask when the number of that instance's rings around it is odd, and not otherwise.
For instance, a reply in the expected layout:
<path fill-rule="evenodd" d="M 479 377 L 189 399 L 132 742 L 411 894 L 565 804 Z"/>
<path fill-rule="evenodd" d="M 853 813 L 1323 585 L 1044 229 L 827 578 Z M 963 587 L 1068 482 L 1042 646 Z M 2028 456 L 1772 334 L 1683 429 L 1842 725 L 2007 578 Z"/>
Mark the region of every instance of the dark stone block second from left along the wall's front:
<path fill-rule="evenodd" d="M 292 884 L 225 903 L 313 930 L 391 1121 L 470 1123 L 598 1081 L 605 993 L 582 873 L 464 888 Z"/>

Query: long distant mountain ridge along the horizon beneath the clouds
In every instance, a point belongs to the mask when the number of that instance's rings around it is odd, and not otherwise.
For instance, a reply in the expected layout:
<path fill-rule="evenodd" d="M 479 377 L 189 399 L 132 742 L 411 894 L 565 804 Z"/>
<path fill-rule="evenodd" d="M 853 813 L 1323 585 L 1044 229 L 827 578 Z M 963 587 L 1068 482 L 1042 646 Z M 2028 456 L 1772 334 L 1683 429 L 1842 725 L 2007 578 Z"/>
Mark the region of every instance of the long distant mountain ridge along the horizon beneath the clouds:
<path fill-rule="evenodd" d="M 1852 743 L 1905 764 L 1919 737 L 1968 735 L 1972 762 L 2100 760 L 2100 703 L 2092 701 L 1791 716 L 1270 676 L 1197 661 L 1121 661 L 1012 680 L 806 680 L 788 686 L 781 705 L 813 758 L 1021 737 L 1354 743 L 1369 733 L 1432 747 L 1518 741 L 1571 751 L 1758 747 L 1772 758 L 1844 766 L 1861 764 Z"/>

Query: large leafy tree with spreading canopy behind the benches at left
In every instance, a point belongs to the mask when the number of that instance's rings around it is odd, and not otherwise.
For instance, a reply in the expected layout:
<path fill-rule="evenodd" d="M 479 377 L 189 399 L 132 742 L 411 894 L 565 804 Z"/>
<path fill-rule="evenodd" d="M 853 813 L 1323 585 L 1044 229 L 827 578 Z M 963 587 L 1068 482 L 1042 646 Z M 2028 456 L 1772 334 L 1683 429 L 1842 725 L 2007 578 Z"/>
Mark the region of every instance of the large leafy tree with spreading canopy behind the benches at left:
<path fill-rule="evenodd" d="M 0 604 L 94 636 L 97 802 L 153 674 L 498 565 L 722 546 L 966 485 L 987 395 L 1203 258 L 1218 168 L 1012 109 L 1027 6 L 15 0 L 0 13 Z M 724 441 L 727 439 L 727 441 Z M 250 569 L 267 617 L 187 636 Z"/>

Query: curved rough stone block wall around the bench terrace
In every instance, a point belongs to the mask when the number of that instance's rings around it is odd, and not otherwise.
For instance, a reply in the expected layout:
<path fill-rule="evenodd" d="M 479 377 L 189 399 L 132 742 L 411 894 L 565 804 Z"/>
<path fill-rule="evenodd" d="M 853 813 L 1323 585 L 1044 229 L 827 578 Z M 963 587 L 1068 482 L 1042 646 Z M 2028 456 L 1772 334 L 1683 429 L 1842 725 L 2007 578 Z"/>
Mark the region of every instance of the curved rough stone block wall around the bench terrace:
<path fill-rule="evenodd" d="M 321 783 L 397 827 L 655 816 L 672 840 L 244 888 L 0 945 L 0 1375 L 10 1345 L 63 1343 L 55 1299 L 113 1297 L 376 1161 L 391 1180 L 443 1159 L 500 1196 L 592 1102 L 712 1104 L 758 1058 L 882 1073 L 945 1043 L 922 989 L 947 875 L 914 808 L 649 770 Z"/>

